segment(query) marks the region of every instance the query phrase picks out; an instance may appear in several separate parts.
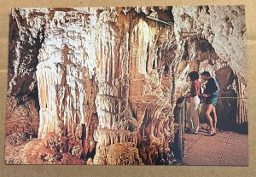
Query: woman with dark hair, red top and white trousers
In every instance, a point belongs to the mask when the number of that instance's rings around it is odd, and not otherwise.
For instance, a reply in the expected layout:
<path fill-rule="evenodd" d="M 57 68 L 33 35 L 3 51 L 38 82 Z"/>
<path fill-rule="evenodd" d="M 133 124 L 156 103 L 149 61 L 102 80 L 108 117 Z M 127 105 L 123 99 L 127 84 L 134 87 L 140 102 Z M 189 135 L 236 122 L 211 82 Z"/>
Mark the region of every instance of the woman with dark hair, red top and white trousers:
<path fill-rule="evenodd" d="M 198 134 L 199 129 L 199 112 L 198 106 L 200 104 L 199 95 L 200 93 L 200 82 L 199 74 L 197 71 L 191 71 L 189 73 L 189 79 L 191 81 L 190 94 L 186 97 L 190 98 L 189 110 L 187 111 L 187 127 L 189 128 L 188 133 Z"/>

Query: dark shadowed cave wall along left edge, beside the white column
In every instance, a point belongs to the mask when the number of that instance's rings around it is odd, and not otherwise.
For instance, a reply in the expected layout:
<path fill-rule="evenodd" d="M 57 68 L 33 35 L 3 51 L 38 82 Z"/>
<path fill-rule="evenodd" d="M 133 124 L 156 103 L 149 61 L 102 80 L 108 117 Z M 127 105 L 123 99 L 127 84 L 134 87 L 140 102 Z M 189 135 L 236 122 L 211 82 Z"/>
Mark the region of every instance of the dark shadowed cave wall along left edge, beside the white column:
<path fill-rule="evenodd" d="M 40 13 L 39 13 L 39 12 Z M 6 134 L 38 136 L 39 102 L 36 66 L 44 42 L 44 13 L 13 9 L 9 19 L 9 67 Z"/>

